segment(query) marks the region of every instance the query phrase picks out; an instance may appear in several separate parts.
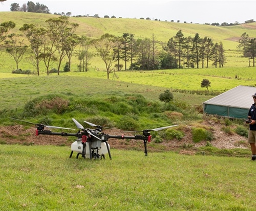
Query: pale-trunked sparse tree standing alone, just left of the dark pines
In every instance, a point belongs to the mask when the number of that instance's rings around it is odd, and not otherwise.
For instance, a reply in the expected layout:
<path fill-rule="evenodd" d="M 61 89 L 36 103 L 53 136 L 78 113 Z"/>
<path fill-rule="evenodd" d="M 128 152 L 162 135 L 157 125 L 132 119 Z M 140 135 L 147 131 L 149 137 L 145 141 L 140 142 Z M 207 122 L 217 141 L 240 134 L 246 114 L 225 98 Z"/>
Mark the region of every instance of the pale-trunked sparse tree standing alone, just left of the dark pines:
<path fill-rule="evenodd" d="M 114 72 L 113 63 L 115 61 L 117 52 L 116 48 L 116 37 L 112 34 L 103 34 L 100 39 L 94 40 L 95 49 L 103 60 L 106 67 L 106 75 L 109 79 L 110 73 Z"/>

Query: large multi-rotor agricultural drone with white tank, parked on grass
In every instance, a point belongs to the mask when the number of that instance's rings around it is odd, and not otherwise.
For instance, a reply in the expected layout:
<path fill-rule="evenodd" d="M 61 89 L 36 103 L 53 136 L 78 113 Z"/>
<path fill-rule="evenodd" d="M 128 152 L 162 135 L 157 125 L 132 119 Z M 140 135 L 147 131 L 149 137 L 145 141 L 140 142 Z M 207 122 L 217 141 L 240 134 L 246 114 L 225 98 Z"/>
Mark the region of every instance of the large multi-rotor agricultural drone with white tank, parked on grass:
<path fill-rule="evenodd" d="M 104 133 L 102 130 L 103 127 L 100 125 L 95 125 L 93 123 L 83 121 L 84 123 L 89 124 L 90 126 L 94 127 L 95 129 L 84 128 L 78 121 L 72 119 L 75 123 L 76 127 L 78 128 L 78 132 L 76 133 L 67 133 L 67 132 L 52 132 L 51 130 L 46 130 L 45 128 L 56 128 L 56 129 L 64 129 L 64 130 L 75 130 L 72 128 L 65 128 L 65 127 L 57 127 L 57 126 L 49 126 L 44 124 L 37 124 L 32 123 L 24 120 L 19 120 L 15 118 L 10 118 L 17 121 L 22 121 L 25 123 L 33 124 L 36 126 L 35 135 L 60 135 L 60 136 L 75 136 L 76 140 L 71 144 L 71 153 L 70 158 L 73 155 L 73 152 L 76 152 L 76 158 L 81 155 L 83 158 L 90 158 L 90 159 L 97 159 L 103 158 L 105 159 L 105 154 L 109 155 L 109 158 L 112 159 L 110 153 L 110 145 L 108 143 L 109 138 L 117 138 L 117 139 L 136 139 L 136 140 L 143 140 L 144 142 L 144 153 L 147 156 L 147 142 L 151 142 L 151 131 L 159 131 L 163 129 L 167 129 L 170 127 L 176 127 L 178 125 L 160 127 L 155 129 L 146 129 L 146 130 L 135 130 L 135 131 L 125 131 L 125 132 L 142 132 L 141 135 L 134 135 L 134 136 L 125 136 L 125 135 L 110 135 Z M 114 128 L 109 128 L 114 129 Z"/>

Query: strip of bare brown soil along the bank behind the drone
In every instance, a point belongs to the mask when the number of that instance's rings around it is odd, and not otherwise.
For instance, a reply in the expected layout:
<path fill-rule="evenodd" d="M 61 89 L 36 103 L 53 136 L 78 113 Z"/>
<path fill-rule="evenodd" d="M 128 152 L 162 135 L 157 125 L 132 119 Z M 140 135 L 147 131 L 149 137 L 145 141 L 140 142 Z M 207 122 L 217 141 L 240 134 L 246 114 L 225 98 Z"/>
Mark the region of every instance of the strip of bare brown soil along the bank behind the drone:
<path fill-rule="evenodd" d="M 216 148 L 220 149 L 233 149 L 233 148 L 243 148 L 249 149 L 247 144 L 247 138 L 240 136 L 236 133 L 227 134 L 221 130 L 223 125 L 218 123 L 204 122 L 205 126 L 213 128 L 214 140 L 211 140 L 210 144 Z M 180 153 L 193 154 L 195 150 L 193 148 L 198 148 L 201 146 L 206 146 L 206 142 L 202 141 L 200 143 L 194 143 L 191 135 L 191 127 L 186 126 L 183 128 L 185 136 L 181 140 L 163 140 L 162 143 L 155 143 L 154 139 L 151 143 L 147 144 L 148 152 L 156 151 L 179 151 Z M 122 131 L 119 129 L 104 130 L 105 133 L 110 135 L 122 135 Z M 73 132 L 72 132 L 73 133 Z M 74 132 L 75 133 L 75 132 Z M 140 134 L 140 133 L 137 133 Z M 124 134 L 125 136 L 133 136 L 135 134 Z M 58 135 L 35 135 L 35 128 L 27 128 L 23 125 L 6 126 L 0 127 L 0 144 L 20 144 L 20 145 L 56 145 L 70 146 L 76 137 L 72 140 L 67 136 Z M 137 149 L 144 150 L 143 140 L 134 139 L 116 139 L 110 138 L 109 144 L 111 148 L 114 149 Z M 157 146 L 157 147 L 156 147 Z M 184 146 L 193 146 L 189 150 L 185 150 Z M 186 148 L 186 147 L 185 147 Z"/>

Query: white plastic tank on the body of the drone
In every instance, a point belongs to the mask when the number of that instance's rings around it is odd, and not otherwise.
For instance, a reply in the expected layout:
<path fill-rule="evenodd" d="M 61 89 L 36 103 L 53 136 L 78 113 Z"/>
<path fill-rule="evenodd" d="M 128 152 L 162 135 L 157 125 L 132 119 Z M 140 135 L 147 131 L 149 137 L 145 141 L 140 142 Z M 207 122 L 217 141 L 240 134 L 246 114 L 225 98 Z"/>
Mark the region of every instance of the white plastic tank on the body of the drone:
<path fill-rule="evenodd" d="M 109 146 L 109 149 L 110 149 L 109 144 L 108 144 L 108 146 Z M 77 153 L 82 153 L 82 139 L 81 138 L 78 138 L 75 142 L 72 143 L 71 150 L 74 151 L 74 152 L 77 152 Z M 98 153 L 99 153 L 99 155 L 108 154 L 108 148 L 106 148 L 106 143 L 105 142 L 100 143 L 100 149 L 99 149 Z M 86 155 L 85 156 L 86 156 L 86 158 L 90 158 L 90 147 L 89 147 L 88 142 L 86 142 Z"/>

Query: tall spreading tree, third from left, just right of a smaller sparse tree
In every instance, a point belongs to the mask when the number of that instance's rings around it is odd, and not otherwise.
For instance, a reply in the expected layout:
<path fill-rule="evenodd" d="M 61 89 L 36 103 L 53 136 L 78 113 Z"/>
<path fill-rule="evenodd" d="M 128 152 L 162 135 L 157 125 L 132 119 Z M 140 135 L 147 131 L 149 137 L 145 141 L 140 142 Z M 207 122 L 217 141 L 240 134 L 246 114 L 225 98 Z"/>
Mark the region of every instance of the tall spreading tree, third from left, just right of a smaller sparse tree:
<path fill-rule="evenodd" d="M 24 24 L 19 30 L 26 35 L 30 42 L 30 47 L 34 55 L 32 65 L 36 68 L 37 75 L 39 76 L 39 62 L 42 59 L 40 54 L 44 48 L 43 43 L 46 39 L 47 31 L 44 28 L 36 27 L 34 24 Z"/>

